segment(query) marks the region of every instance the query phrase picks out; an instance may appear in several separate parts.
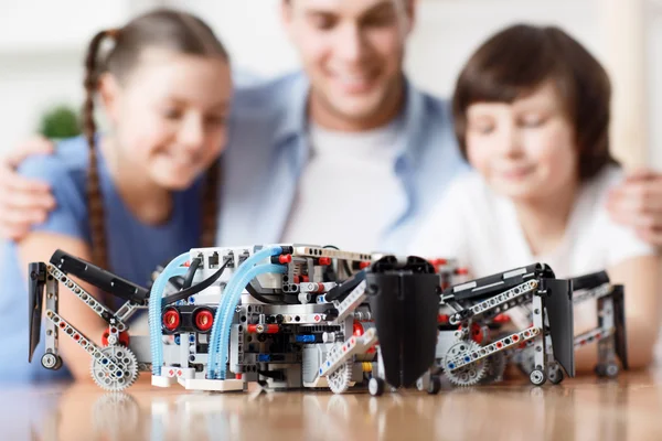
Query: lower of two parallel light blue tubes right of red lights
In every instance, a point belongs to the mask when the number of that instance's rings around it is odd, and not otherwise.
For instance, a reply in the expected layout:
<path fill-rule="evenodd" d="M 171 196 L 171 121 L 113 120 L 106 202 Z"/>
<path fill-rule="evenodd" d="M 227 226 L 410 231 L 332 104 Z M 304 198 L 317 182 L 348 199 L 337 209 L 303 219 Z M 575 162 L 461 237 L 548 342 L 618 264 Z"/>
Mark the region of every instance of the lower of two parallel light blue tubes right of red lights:
<path fill-rule="evenodd" d="M 242 292 L 244 288 L 259 275 L 267 272 L 270 273 L 285 273 L 286 267 L 282 265 L 258 265 L 257 267 L 250 268 L 247 272 L 242 275 L 241 280 L 233 287 L 232 291 L 226 291 L 225 297 L 227 298 L 228 308 L 227 313 L 222 318 L 221 322 L 221 335 L 216 342 L 215 354 L 218 356 L 212 358 L 210 356 L 209 364 L 211 365 L 210 372 L 213 372 L 214 378 L 225 379 L 225 358 L 227 357 L 227 348 L 229 346 L 229 331 L 232 327 L 232 321 L 234 318 L 235 309 L 242 299 Z M 210 346 L 211 347 L 211 346 Z"/>

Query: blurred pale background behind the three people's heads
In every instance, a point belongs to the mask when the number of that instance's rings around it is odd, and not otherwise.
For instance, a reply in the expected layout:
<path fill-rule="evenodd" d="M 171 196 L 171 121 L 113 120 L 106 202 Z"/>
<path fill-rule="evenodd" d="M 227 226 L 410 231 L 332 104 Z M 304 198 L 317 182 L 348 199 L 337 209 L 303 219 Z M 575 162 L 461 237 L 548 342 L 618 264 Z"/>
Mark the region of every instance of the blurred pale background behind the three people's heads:
<path fill-rule="evenodd" d="M 83 100 L 83 54 L 100 29 L 158 6 L 199 14 L 228 46 L 242 83 L 298 68 L 279 23 L 281 0 L 3 0 L 0 154 L 40 129 L 44 114 Z M 613 86 L 615 154 L 662 168 L 662 0 L 419 0 L 406 71 L 449 96 L 468 55 L 517 21 L 557 24 L 586 44 Z"/>

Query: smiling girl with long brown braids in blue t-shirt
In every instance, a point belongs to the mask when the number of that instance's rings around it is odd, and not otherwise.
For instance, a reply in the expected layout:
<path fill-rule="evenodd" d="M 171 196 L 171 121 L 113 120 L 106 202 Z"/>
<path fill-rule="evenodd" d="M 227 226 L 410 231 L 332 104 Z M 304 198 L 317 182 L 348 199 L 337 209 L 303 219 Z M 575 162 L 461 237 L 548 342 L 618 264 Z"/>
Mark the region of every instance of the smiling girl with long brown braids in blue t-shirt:
<path fill-rule="evenodd" d="M 113 47 L 102 56 L 106 42 Z M 224 46 L 201 20 L 158 10 L 96 34 L 85 67 L 85 136 L 20 168 L 50 183 L 57 207 L 2 250 L 3 380 L 89 377 L 89 356 L 66 336 L 60 338 L 61 370 L 40 366 L 43 345 L 28 364 L 29 262 L 49 261 L 62 248 L 145 286 L 159 263 L 214 244 L 218 155 L 232 92 Z M 97 93 L 109 133 L 97 132 Z M 100 344 L 107 324 L 64 287 L 60 310 Z"/>

